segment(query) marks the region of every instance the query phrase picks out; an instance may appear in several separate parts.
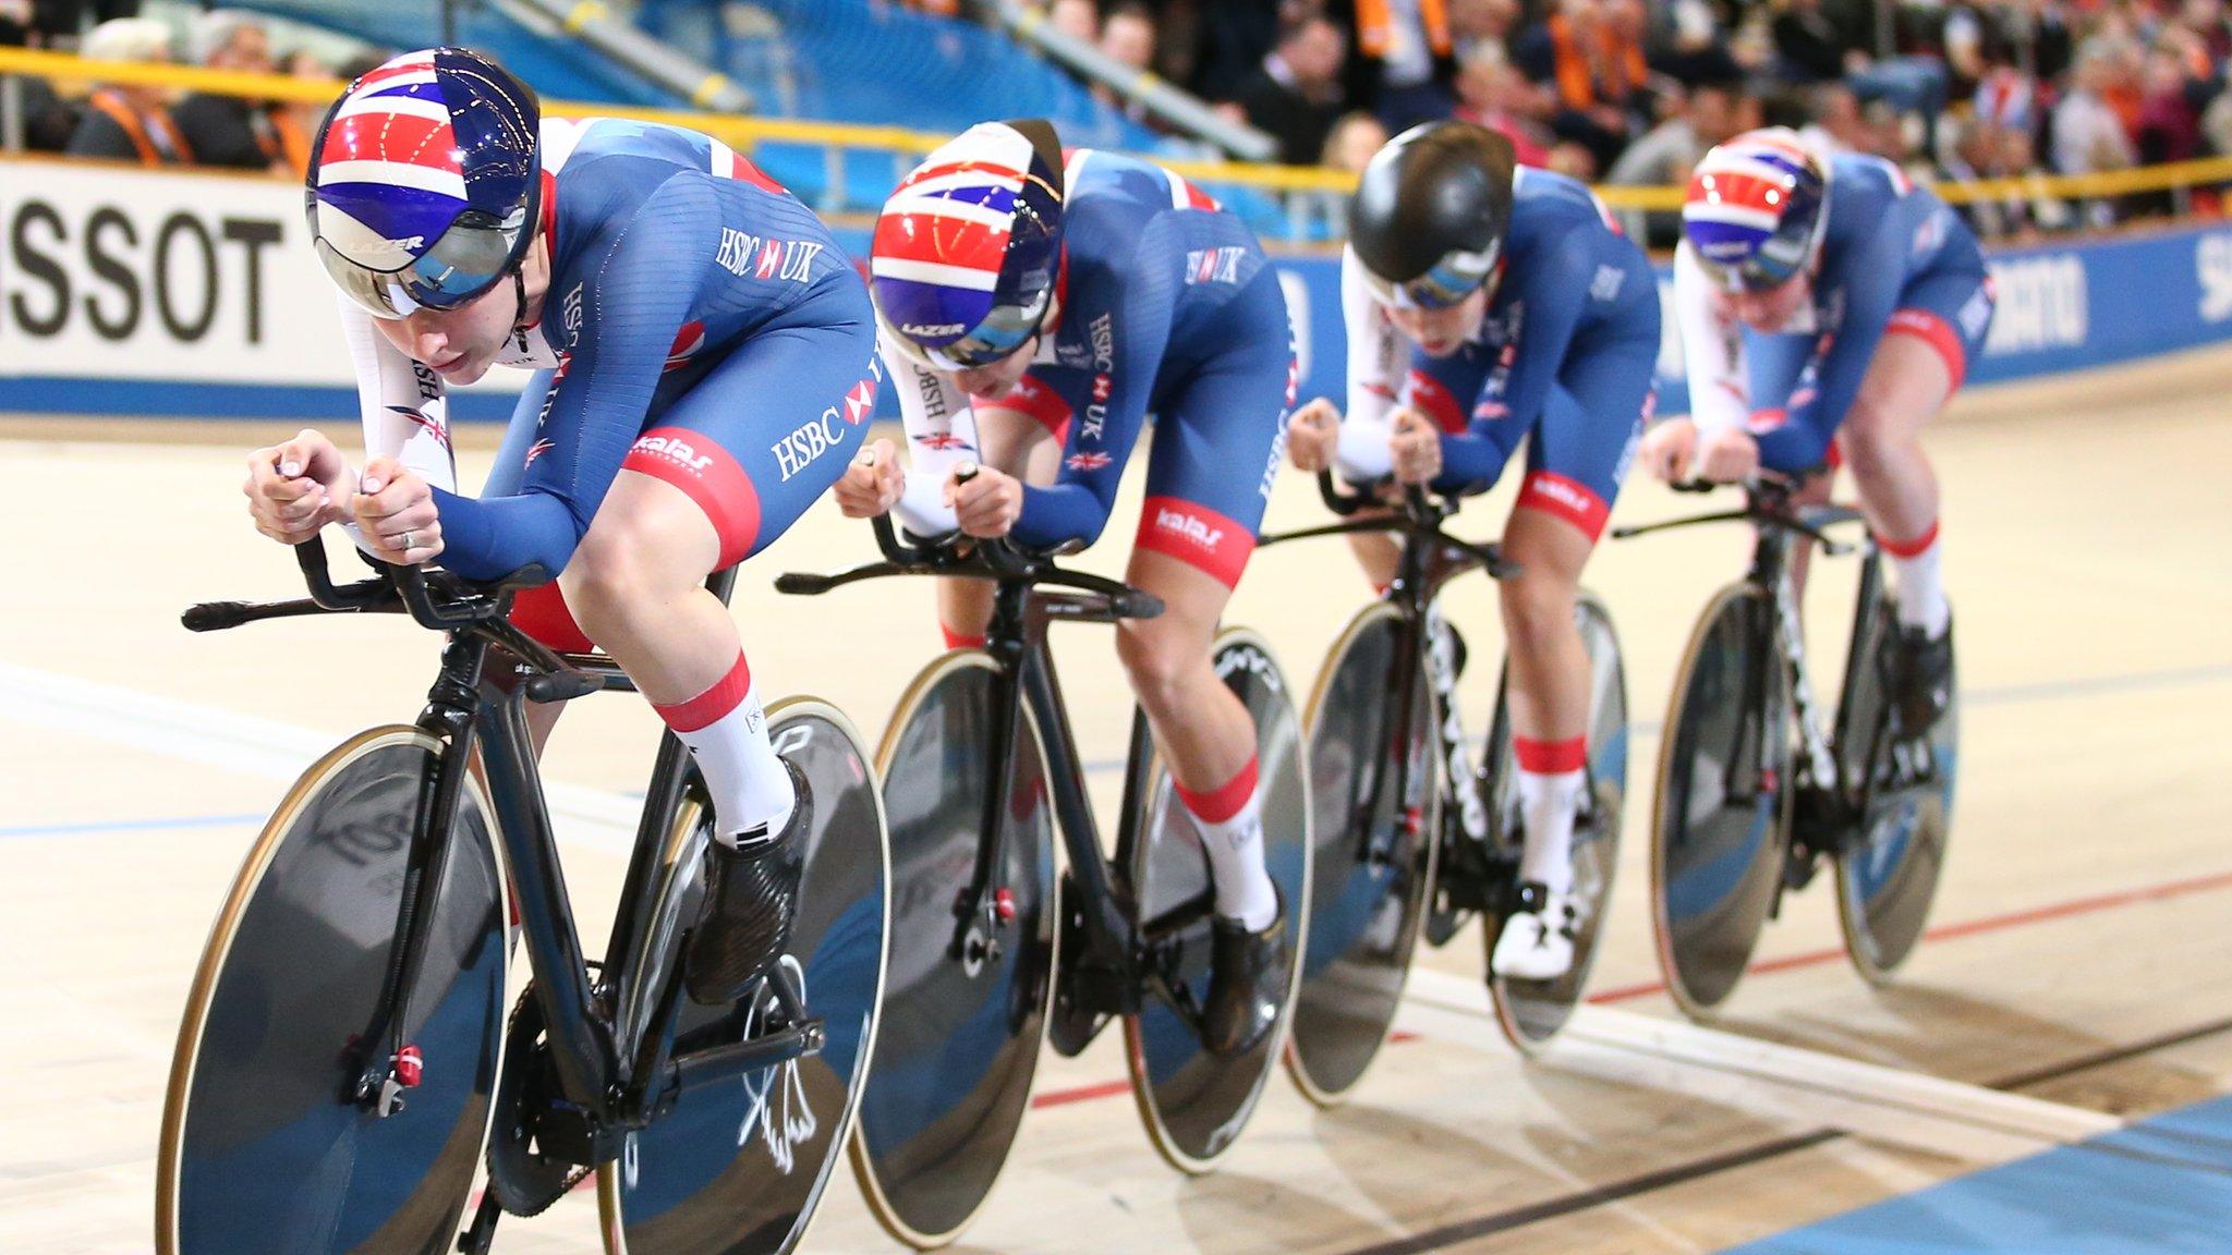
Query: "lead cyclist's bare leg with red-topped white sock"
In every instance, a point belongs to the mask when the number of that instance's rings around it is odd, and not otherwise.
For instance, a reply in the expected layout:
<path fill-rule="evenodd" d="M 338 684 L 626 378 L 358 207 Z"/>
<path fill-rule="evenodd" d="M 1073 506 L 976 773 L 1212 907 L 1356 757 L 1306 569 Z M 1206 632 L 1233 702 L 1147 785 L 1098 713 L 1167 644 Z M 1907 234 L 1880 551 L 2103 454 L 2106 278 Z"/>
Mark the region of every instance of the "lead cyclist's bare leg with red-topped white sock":
<path fill-rule="evenodd" d="M 705 590 L 719 561 L 721 538 L 694 500 L 620 471 L 558 585 L 580 630 L 690 746 L 728 840 L 779 833 L 795 797 L 737 621 Z"/>

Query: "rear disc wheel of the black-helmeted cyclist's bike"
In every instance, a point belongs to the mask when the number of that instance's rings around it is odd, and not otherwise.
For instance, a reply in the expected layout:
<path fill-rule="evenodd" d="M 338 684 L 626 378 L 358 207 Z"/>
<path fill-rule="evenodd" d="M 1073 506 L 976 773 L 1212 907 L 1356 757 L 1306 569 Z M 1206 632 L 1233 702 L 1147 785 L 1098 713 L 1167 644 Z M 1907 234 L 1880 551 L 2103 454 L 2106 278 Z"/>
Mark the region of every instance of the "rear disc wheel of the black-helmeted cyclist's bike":
<path fill-rule="evenodd" d="M 1627 668 L 1620 663 L 1620 636 L 1612 630 L 1612 612 L 1591 592 L 1574 605 L 1582 650 L 1589 654 L 1589 795 L 1574 820 L 1574 967 L 1556 980 L 1520 980 L 1495 976 L 1489 989 L 1495 998 L 1495 1021 L 1511 1045 L 1536 1052 L 1549 1045 L 1574 1016 L 1589 989 L 1589 971 L 1603 949 L 1605 922 L 1612 913 L 1612 882 L 1620 869 L 1620 822 L 1627 811 Z M 1509 679 L 1509 672 L 1504 674 Z M 1524 835 L 1518 817 L 1518 757 L 1511 748 L 1511 717 L 1502 683 L 1495 694 L 1495 724 L 1489 755 L 1498 764 L 1495 815 L 1498 831 Z M 1518 840 L 1511 840 L 1518 860 Z M 1482 929 L 1493 962 L 1502 920 Z"/>

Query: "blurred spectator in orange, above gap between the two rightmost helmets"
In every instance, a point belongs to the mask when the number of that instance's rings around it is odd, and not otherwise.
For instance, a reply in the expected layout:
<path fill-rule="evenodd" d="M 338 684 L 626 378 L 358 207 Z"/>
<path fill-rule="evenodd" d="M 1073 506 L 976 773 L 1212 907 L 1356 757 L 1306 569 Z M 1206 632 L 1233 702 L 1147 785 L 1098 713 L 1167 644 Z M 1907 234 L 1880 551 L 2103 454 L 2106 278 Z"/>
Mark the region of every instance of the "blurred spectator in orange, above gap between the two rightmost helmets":
<path fill-rule="evenodd" d="M 1636 132 L 1649 67 L 1643 60 L 1641 0 L 1558 0 L 1558 11 L 1511 45 L 1527 78 L 1558 98 L 1551 130 L 1589 150 L 1598 170 Z"/>

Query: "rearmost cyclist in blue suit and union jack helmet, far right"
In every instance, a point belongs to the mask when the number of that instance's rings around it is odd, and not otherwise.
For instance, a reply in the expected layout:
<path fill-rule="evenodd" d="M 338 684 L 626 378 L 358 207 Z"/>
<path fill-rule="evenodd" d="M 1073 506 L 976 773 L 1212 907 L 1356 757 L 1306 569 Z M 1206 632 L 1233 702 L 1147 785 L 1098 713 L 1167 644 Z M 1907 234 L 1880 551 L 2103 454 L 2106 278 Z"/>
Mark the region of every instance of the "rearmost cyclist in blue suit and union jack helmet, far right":
<path fill-rule="evenodd" d="M 1975 234 L 1888 161 L 1824 159 L 1795 132 L 1759 130 L 1690 179 L 1674 308 L 1692 418 L 1654 427 L 1645 464 L 1736 482 L 1841 451 L 1897 569 L 1893 697 L 1906 728 L 1928 728 L 1951 697 L 1953 610 L 1920 433 L 1991 326 Z"/>

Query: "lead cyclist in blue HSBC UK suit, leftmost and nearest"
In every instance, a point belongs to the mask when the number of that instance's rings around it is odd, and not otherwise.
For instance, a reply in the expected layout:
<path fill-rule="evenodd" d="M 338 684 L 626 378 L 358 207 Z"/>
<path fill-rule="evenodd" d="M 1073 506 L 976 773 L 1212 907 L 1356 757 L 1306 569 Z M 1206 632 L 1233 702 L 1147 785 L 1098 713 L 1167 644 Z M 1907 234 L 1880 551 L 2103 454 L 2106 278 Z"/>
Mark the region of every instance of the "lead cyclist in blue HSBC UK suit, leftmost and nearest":
<path fill-rule="evenodd" d="M 703 581 L 781 536 L 859 442 L 882 380 L 859 275 L 719 141 L 542 123 L 518 78 L 451 47 L 350 85 L 306 208 L 348 297 L 368 462 L 315 431 L 259 449 L 259 531 L 353 523 L 386 563 L 556 572 L 520 625 L 600 645 L 705 779 L 716 842 L 685 983 L 734 1000 L 788 947 L 812 797 Z M 498 362 L 536 375 L 487 494 L 458 496 L 444 389 Z"/>

